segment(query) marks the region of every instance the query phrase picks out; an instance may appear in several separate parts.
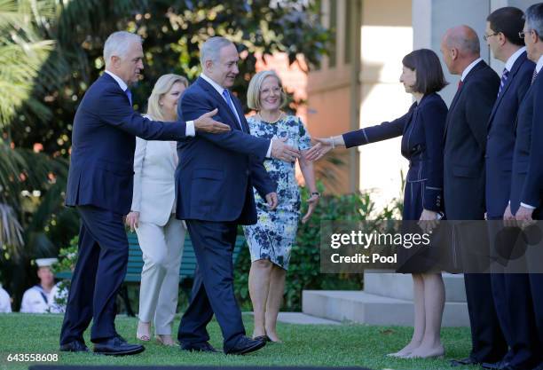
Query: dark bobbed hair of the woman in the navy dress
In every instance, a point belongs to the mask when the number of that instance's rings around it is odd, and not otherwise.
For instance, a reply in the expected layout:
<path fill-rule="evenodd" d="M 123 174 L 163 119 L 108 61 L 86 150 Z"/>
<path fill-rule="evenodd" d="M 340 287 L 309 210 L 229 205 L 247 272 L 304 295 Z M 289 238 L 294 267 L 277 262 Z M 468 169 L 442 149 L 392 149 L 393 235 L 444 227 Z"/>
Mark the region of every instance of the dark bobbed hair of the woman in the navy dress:
<path fill-rule="evenodd" d="M 447 85 L 439 57 L 434 51 L 429 49 L 411 51 L 402 59 L 402 64 L 415 71 L 417 82 L 413 86 L 413 91 L 428 95 L 441 91 Z"/>

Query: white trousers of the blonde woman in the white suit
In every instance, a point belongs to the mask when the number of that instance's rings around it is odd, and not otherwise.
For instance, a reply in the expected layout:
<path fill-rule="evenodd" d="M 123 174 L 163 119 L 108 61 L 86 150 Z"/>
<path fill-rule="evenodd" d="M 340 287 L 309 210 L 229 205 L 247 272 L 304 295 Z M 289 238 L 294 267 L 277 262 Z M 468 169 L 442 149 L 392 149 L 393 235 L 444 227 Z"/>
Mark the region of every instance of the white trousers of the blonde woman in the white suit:
<path fill-rule="evenodd" d="M 139 288 L 139 320 L 151 322 L 154 318 L 155 335 L 171 335 L 177 311 L 185 225 L 172 214 L 164 226 L 140 222 L 136 232 L 144 260 Z"/>

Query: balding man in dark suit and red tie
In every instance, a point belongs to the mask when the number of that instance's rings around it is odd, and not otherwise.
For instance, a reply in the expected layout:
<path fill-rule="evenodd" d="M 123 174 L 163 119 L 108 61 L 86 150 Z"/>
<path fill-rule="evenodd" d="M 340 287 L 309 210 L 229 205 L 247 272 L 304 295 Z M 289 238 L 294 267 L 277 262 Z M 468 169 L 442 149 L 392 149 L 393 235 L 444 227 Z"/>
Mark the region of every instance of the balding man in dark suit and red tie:
<path fill-rule="evenodd" d="M 445 216 L 449 220 L 483 220 L 486 125 L 500 77 L 480 58 L 479 39 L 472 28 L 447 30 L 441 52 L 451 74 L 460 75 L 445 125 Z M 490 276 L 465 274 L 464 279 L 472 350 L 468 358 L 455 360 L 452 365 L 499 361 L 507 344 L 496 316 Z"/>

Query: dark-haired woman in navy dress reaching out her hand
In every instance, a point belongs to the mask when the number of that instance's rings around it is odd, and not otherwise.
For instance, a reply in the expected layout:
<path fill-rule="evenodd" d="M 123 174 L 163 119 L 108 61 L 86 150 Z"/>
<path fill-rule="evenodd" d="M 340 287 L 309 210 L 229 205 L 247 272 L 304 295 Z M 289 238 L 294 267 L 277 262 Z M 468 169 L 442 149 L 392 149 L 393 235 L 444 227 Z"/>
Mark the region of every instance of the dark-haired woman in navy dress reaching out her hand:
<path fill-rule="evenodd" d="M 416 100 L 409 111 L 392 122 L 347 132 L 331 138 L 317 138 L 318 144 L 306 159 L 322 158 L 336 146 L 362 146 L 388 138 L 402 137 L 402 155 L 409 160 L 405 178 L 404 220 L 430 224 L 441 217 L 443 199 L 443 135 L 447 106 L 437 95 L 445 77 L 434 51 L 412 51 L 402 60 L 400 82 Z M 431 262 L 430 262 L 431 264 Z M 400 272 L 413 273 L 414 331 L 411 342 L 390 354 L 399 358 L 430 358 L 445 354 L 440 339 L 445 307 L 445 285 L 441 273 L 431 270 L 428 256 L 413 256 Z"/>

